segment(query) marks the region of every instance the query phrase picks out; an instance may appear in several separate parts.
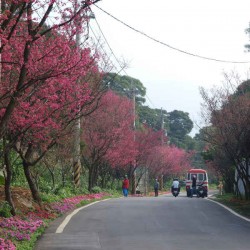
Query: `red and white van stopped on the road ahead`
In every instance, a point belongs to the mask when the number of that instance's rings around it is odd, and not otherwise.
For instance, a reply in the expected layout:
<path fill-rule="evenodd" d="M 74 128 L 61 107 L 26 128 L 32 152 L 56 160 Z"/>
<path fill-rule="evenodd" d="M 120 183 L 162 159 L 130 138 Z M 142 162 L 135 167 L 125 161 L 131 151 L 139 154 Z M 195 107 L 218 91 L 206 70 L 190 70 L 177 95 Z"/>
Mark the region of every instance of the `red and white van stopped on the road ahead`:
<path fill-rule="evenodd" d="M 187 179 L 186 179 L 187 197 L 191 196 L 193 176 L 196 177 L 196 191 L 202 187 L 203 197 L 204 196 L 207 197 L 208 194 L 207 171 L 204 169 L 195 169 L 195 168 L 190 169 L 187 173 Z"/>

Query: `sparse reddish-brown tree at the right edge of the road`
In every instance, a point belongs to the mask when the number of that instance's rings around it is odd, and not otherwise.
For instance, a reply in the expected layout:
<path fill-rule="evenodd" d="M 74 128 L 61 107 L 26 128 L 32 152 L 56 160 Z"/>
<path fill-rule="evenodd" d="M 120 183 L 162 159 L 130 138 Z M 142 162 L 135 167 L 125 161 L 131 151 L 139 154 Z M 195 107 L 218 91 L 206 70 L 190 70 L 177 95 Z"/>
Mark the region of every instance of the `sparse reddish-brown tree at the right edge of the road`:
<path fill-rule="evenodd" d="M 249 92 L 242 92 L 248 88 L 236 86 L 232 92 L 232 87 L 230 81 L 228 86 L 213 92 L 212 96 L 201 90 L 205 112 L 213 126 L 208 138 L 234 163 L 245 189 L 245 198 L 250 199 L 250 98 Z"/>

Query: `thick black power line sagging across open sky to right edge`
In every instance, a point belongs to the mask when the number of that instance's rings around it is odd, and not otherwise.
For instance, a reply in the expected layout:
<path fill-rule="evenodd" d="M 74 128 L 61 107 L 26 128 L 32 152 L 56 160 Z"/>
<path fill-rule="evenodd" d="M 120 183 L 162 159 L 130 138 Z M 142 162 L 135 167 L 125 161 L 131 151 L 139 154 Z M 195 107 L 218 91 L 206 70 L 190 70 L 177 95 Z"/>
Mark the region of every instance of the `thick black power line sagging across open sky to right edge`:
<path fill-rule="evenodd" d="M 156 38 L 152 37 L 152 36 L 149 36 L 147 35 L 146 33 L 138 30 L 138 29 L 135 29 L 133 28 L 132 26 L 128 25 L 127 23 L 121 21 L 120 19 L 114 17 L 112 14 L 108 13 L 107 11 L 103 10 L 102 8 L 100 8 L 99 6 L 97 6 L 96 4 L 94 4 L 99 10 L 101 10 L 102 12 L 104 12 L 105 14 L 107 14 L 108 16 L 110 16 L 111 18 L 115 19 L 116 21 L 118 21 L 119 23 L 123 24 L 124 26 L 126 26 L 127 28 L 149 38 L 150 40 L 153 40 L 154 42 L 157 42 L 161 45 L 164 45 L 172 50 L 175 50 L 175 51 L 178 51 L 180 53 L 183 53 L 183 54 L 186 54 L 186 55 L 189 55 L 189 56 L 194 56 L 194 57 L 198 57 L 200 59 L 205 59 L 205 60 L 210 60 L 210 61 L 216 61 L 216 62 L 223 62 L 223 63 L 250 63 L 249 61 L 227 61 L 227 60 L 221 60 L 221 59 L 216 59 L 216 58 L 211 58 L 211 57 L 206 57 L 206 56 L 201 56 L 201 55 L 198 55 L 198 54 L 193 54 L 191 52 L 188 52 L 188 51 L 185 51 L 185 50 L 182 50 L 182 49 L 178 49 L 178 48 L 175 48 L 173 47 L 172 45 L 169 45 L 165 42 L 162 42 L 160 40 L 157 40 Z"/>

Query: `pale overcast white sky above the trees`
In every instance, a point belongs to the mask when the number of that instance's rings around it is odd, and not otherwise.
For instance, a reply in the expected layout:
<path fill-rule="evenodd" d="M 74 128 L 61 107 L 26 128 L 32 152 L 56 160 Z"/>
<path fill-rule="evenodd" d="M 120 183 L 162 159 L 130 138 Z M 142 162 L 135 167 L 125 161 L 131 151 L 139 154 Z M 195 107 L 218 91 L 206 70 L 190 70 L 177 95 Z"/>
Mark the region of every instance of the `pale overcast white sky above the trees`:
<path fill-rule="evenodd" d="M 245 33 L 250 22 L 249 0 L 102 0 L 97 6 L 176 49 L 217 60 L 250 62 L 250 53 L 244 49 L 249 42 Z M 103 40 L 103 48 L 111 55 L 103 33 L 115 57 L 128 62 L 129 67 L 120 74 L 127 73 L 143 83 L 151 108 L 182 110 L 200 124 L 199 86 L 221 85 L 223 72 L 232 70 L 239 72 L 242 80 L 247 78 L 250 63 L 222 63 L 181 53 L 96 7 L 92 10 L 96 20 L 90 21 L 90 27 L 95 36 Z M 115 57 L 111 55 L 118 71 Z M 192 135 L 197 131 L 196 127 Z"/>

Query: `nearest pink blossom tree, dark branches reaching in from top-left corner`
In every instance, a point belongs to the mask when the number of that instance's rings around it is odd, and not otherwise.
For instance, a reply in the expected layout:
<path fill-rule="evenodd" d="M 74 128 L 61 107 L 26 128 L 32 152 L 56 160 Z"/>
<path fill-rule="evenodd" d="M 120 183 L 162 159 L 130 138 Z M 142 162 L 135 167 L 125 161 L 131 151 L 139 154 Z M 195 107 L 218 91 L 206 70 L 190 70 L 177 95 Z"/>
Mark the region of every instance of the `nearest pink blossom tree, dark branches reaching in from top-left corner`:
<path fill-rule="evenodd" d="M 27 92 L 27 88 L 34 87 L 36 89 L 46 79 L 71 70 L 72 64 L 69 64 L 67 68 L 60 67 L 67 65 L 63 63 L 65 62 L 63 52 L 67 51 L 71 45 L 61 43 L 57 47 L 54 35 L 55 33 L 64 33 L 72 39 L 77 32 L 80 32 L 80 24 L 87 21 L 89 6 L 98 1 L 81 1 L 79 4 L 75 0 L 1 1 L 0 137 L 5 134 L 11 115 L 15 107 L 19 105 L 24 92 Z M 46 48 L 40 47 L 43 43 L 51 46 L 42 51 Z M 40 56 L 33 53 L 38 50 L 40 50 Z M 52 62 L 55 51 L 61 55 L 60 61 L 62 63 L 57 60 L 54 61 L 54 64 L 46 65 L 45 58 Z M 42 61 L 42 66 L 47 66 L 47 68 L 43 68 L 40 72 L 41 63 L 39 62 Z M 6 71 L 10 73 L 7 74 Z M 37 72 L 40 73 L 37 75 Z M 5 80 L 9 84 L 6 84 Z M 30 91 L 29 94 L 31 96 L 33 92 Z"/>

